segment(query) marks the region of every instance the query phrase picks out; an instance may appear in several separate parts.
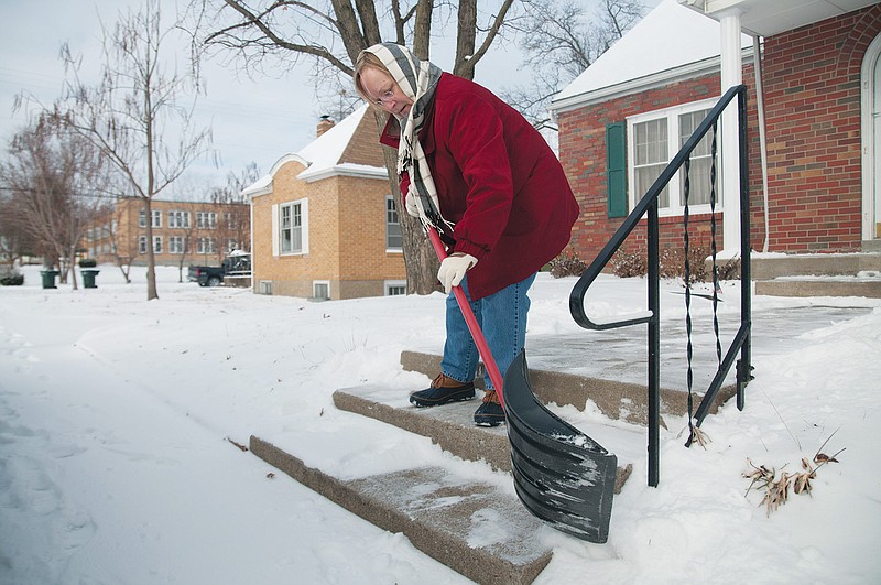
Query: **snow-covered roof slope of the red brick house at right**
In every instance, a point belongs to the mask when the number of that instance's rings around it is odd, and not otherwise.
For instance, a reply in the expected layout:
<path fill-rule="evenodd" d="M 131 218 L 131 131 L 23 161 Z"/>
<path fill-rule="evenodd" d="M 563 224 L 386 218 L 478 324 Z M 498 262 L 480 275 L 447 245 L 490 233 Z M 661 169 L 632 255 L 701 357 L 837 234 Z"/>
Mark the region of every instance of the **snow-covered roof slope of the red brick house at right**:
<path fill-rule="evenodd" d="M 719 67 L 721 32 L 717 21 L 663 0 L 624 36 L 557 94 L 552 111 L 632 94 L 672 78 Z M 741 35 L 741 47 L 752 39 Z"/>

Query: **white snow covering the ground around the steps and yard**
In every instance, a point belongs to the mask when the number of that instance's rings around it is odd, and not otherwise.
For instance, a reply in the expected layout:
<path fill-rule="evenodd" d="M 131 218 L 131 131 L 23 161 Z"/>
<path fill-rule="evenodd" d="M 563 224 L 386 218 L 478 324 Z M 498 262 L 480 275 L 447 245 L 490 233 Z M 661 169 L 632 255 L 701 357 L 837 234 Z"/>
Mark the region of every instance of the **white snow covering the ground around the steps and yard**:
<path fill-rule="evenodd" d="M 467 583 L 235 445 L 269 437 L 347 478 L 428 463 L 509 486 L 333 407 L 337 388 L 404 396 L 427 383 L 399 358 L 439 351 L 442 295 L 311 303 L 177 283 L 163 269 L 160 300 L 146 302 L 143 269 L 128 285 L 100 269 L 98 289 L 43 290 L 39 268 L 0 288 L 0 583 Z M 527 348 L 591 335 L 568 315 L 573 283 L 540 275 Z M 589 313 L 642 310 L 643 290 L 603 278 Z M 724 295 L 722 317 L 738 306 L 736 288 Z M 662 300 L 665 327 L 681 328 L 682 295 Z M 696 318 L 708 306 L 695 301 Z M 661 485 L 645 486 L 638 456 L 607 544 L 539 533 L 554 559 L 536 583 L 881 582 L 881 302 L 755 297 L 753 308 L 746 410 L 708 419 L 706 449 L 683 447 L 684 419 L 663 431 Z M 558 354 L 557 368 L 595 361 L 576 343 Z M 559 412 L 588 434 L 622 426 L 591 404 Z M 795 473 L 822 446 L 845 451 L 809 496 L 790 491 L 768 514 L 762 494 L 747 494 L 750 461 Z"/>

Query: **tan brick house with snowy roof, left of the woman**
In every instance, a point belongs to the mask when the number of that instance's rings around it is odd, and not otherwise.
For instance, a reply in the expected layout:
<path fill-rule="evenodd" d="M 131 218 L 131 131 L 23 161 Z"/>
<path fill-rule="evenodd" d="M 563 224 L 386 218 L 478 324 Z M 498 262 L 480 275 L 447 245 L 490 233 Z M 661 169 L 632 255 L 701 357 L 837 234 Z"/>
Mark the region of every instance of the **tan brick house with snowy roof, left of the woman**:
<path fill-rule="evenodd" d="M 403 294 L 401 228 L 377 122 L 363 106 L 285 154 L 251 199 L 253 289 L 320 300 Z"/>

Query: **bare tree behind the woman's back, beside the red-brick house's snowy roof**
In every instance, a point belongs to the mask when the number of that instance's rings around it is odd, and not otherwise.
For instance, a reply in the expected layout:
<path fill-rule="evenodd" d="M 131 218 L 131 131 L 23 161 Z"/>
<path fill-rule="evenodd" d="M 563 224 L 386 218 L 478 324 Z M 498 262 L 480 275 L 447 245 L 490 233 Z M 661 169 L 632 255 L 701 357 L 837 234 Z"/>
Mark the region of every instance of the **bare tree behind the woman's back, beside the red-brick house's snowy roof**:
<path fill-rule="evenodd" d="M 639 0 L 598 0 L 590 10 L 583 0 L 523 0 L 526 17 L 520 30 L 526 85 L 507 87 L 505 101 L 535 126 L 550 121 L 547 104 L 563 86 L 587 69 L 630 30 L 645 10 Z"/>

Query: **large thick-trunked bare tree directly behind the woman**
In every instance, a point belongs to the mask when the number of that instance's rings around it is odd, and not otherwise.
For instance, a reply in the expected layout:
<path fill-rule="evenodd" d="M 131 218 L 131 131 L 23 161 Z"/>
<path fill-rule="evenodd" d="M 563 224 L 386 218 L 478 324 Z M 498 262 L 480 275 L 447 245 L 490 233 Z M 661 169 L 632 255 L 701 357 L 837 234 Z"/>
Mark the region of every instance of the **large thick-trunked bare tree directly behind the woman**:
<path fill-rule="evenodd" d="M 455 14 L 456 55 L 453 73 L 474 78 L 475 67 L 487 54 L 509 18 L 513 0 L 486 2 L 480 12 L 477 0 L 461 0 Z M 454 4 L 455 6 L 455 4 Z M 324 8 L 322 8 L 324 7 Z M 435 10 L 438 8 L 438 10 Z M 376 43 L 392 41 L 410 45 L 417 57 L 427 59 L 435 19 L 448 10 L 440 0 L 330 0 L 327 4 L 298 0 L 192 0 L 191 17 L 195 46 L 209 54 L 221 52 L 239 57 L 251 72 L 304 62 L 325 79 L 346 79 L 351 88 L 352 67 L 358 54 Z M 452 15 L 449 18 L 453 18 Z M 391 31 L 383 36 L 383 31 Z M 380 128 L 385 116 L 377 113 Z M 395 205 L 403 209 L 396 180 L 396 153 L 384 149 L 390 188 Z M 427 245 L 418 220 L 401 217 L 407 292 L 425 294 L 436 289 L 437 259 Z"/>

